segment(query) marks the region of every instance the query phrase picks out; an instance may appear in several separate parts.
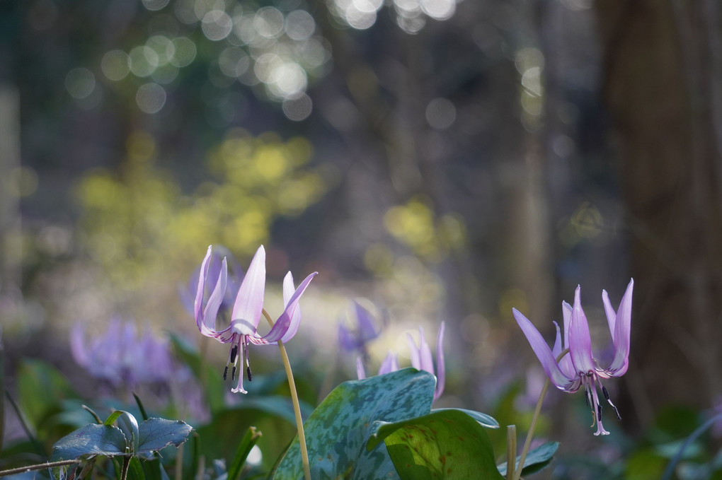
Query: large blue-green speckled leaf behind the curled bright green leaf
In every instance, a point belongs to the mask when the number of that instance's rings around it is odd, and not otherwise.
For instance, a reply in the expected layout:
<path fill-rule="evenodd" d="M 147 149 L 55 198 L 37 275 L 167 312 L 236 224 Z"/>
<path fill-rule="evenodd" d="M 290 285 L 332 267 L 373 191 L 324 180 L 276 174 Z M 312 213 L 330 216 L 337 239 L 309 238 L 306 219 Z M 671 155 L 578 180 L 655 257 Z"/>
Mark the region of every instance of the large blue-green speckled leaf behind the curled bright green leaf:
<path fill-rule="evenodd" d="M 313 479 L 398 479 L 383 444 L 366 449 L 370 427 L 376 420 L 399 422 L 428 414 L 435 384 L 430 373 L 404 368 L 334 388 L 304 425 Z M 300 478 L 303 468 L 296 439 L 274 479 Z"/>

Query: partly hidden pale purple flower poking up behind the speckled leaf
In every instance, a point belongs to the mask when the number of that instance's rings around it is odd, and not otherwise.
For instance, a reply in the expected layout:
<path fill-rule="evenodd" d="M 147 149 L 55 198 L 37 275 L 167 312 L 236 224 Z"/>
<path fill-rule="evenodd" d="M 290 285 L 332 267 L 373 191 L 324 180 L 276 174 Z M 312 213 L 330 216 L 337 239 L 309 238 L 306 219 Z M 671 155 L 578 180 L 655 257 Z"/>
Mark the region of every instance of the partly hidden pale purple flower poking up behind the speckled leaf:
<path fill-rule="evenodd" d="M 434 361 L 431 355 L 431 349 L 427 344 L 424 337 L 424 329 L 419 326 L 419 346 L 417 347 L 414 338 L 409 334 L 409 348 L 411 350 L 411 364 L 417 370 L 425 370 L 436 377 L 436 388 L 434 389 L 434 401 L 436 401 L 441 394 L 443 394 L 445 386 L 445 362 L 444 362 L 444 327 L 445 324 L 442 321 L 439 326 L 439 334 L 436 339 L 436 368 L 434 369 Z M 386 358 L 381 363 L 381 367 L 378 370 L 379 375 L 384 373 L 395 372 L 399 370 L 399 363 L 396 360 L 396 353 L 388 352 Z M 366 371 L 363 366 L 363 360 L 361 357 L 356 359 L 356 373 L 359 380 L 366 378 Z"/>

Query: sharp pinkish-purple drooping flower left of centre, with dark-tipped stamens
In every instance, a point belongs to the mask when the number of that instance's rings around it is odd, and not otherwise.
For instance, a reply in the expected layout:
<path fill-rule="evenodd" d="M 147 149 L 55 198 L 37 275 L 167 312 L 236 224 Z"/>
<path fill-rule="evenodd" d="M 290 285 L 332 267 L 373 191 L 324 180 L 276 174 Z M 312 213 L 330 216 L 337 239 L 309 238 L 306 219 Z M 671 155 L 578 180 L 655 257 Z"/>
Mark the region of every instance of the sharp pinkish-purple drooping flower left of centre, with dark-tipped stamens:
<path fill-rule="evenodd" d="M 193 311 L 196 316 L 196 325 L 201 334 L 206 337 L 213 337 L 221 343 L 230 343 L 230 352 L 226 363 L 223 378 L 228 373 L 228 367 L 232 366 L 231 379 L 235 378 L 236 363 L 245 361 L 248 381 L 251 381 L 251 367 L 248 359 L 248 343 L 255 345 L 276 345 L 279 341 L 287 342 L 292 339 L 298 331 L 301 321 L 301 310 L 298 301 L 308 284 L 318 272 L 313 272 L 301 282 L 294 290 L 293 277 L 288 272 L 283 280 L 283 301 L 284 311 L 277 319 L 271 331 L 264 337 L 256 332 L 258 322 L 264 308 L 264 290 L 266 288 L 266 250 L 264 246 L 258 247 L 253 255 L 251 265 L 248 267 L 243 282 L 238 288 L 238 295 L 235 297 L 231 313 L 230 325 L 225 329 L 216 329 L 216 317 L 218 309 L 222 304 L 228 285 L 227 261 L 224 258 L 221 262 L 215 286 L 207 301 L 204 301 L 206 293 L 206 282 L 209 280 L 210 263 L 212 259 L 212 246 L 208 247 L 206 257 L 201 264 L 199 272 L 198 290 Z M 240 362 L 238 358 L 241 358 Z M 241 365 L 243 366 L 243 365 Z M 248 393 L 243 388 L 243 374 L 238 375 L 238 386 L 232 388 L 234 393 Z"/>

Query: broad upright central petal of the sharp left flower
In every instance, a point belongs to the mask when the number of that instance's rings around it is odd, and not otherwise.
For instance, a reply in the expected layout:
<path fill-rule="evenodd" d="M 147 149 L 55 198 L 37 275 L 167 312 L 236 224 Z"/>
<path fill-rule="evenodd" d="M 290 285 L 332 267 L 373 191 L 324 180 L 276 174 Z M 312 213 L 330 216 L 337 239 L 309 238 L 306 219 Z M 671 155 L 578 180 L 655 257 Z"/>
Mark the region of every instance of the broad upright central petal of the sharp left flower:
<path fill-rule="evenodd" d="M 235 333 L 251 335 L 258 328 L 261 311 L 264 308 L 264 290 L 266 288 L 266 250 L 261 245 L 253 255 L 248 272 L 235 298 L 231 325 Z"/>

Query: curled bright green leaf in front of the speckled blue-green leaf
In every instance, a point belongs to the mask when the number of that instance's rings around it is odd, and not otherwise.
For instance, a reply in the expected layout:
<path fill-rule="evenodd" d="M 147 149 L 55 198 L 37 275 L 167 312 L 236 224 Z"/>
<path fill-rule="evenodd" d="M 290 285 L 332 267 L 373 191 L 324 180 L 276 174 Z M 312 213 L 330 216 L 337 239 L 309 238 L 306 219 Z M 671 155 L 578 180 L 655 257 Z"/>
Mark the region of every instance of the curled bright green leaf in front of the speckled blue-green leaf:
<path fill-rule="evenodd" d="M 402 480 L 503 480 L 489 435 L 474 417 L 441 409 L 401 422 L 376 422 L 367 448 L 383 440 Z"/>

